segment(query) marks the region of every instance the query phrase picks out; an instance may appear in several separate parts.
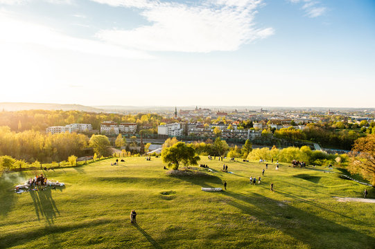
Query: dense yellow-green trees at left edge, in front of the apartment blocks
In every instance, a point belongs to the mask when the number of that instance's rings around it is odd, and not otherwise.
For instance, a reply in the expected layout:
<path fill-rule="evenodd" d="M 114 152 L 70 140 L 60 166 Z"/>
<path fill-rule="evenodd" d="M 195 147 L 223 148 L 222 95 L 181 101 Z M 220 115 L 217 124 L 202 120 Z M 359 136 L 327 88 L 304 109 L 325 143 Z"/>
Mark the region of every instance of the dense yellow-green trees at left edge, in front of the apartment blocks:
<path fill-rule="evenodd" d="M 9 127 L 0 127 L 0 156 L 43 163 L 67 160 L 71 155 L 84 156 L 89 138 L 77 133 L 45 134 L 28 130 L 16 133 Z"/>

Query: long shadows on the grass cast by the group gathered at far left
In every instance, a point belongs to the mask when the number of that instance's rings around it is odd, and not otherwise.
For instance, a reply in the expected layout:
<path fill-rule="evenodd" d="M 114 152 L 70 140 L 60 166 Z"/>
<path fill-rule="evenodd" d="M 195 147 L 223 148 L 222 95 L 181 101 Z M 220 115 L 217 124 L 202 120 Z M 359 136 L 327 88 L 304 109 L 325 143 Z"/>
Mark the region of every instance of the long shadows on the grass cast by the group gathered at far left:
<path fill-rule="evenodd" d="M 60 212 L 55 201 L 52 198 L 52 190 L 46 188 L 46 190 L 40 189 L 39 191 L 31 190 L 29 193 L 31 199 L 33 199 L 37 219 L 40 220 L 42 216 L 46 219 L 49 225 L 53 224 L 53 219 L 55 219 L 57 214 L 60 214 Z"/>

